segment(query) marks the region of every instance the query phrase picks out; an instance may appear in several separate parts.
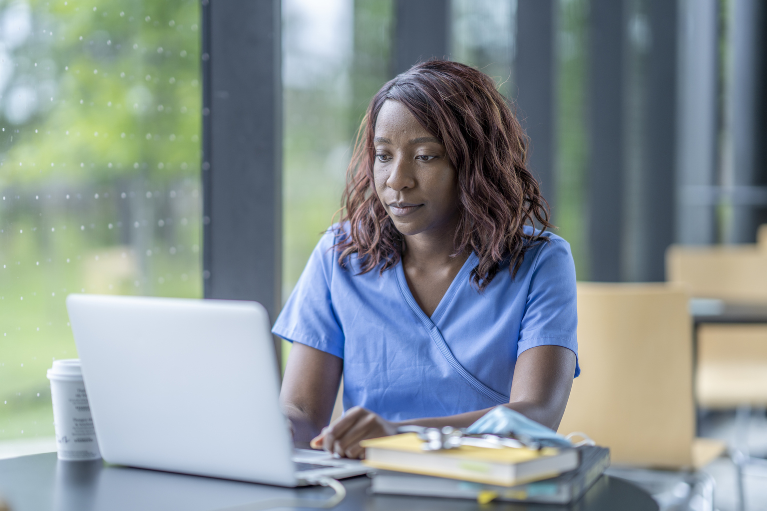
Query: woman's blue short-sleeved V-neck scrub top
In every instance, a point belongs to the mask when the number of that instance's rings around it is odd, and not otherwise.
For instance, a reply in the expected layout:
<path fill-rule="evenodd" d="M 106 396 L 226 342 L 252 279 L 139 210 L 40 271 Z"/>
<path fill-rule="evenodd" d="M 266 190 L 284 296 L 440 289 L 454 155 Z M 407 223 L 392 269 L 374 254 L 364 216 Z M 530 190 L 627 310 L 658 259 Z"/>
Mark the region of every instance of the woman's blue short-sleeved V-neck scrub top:
<path fill-rule="evenodd" d="M 344 409 L 403 421 L 489 408 L 509 402 L 525 349 L 578 355 L 575 266 L 561 237 L 544 233 L 548 243 L 528 250 L 513 280 L 506 264 L 483 293 L 470 281 L 472 253 L 429 317 L 401 261 L 380 275 L 359 274 L 356 254 L 340 267 L 336 228 L 314 248 L 272 332 L 344 359 Z"/>

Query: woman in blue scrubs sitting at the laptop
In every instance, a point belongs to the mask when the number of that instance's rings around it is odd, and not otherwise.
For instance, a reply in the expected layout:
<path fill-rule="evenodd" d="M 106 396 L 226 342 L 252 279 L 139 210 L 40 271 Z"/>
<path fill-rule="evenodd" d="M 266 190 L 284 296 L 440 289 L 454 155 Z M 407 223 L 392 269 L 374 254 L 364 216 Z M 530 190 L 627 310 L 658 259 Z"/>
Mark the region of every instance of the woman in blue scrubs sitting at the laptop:
<path fill-rule="evenodd" d="M 578 375 L 575 270 L 492 80 L 417 64 L 376 94 L 341 223 L 273 332 L 296 441 L 341 456 L 397 427 L 466 427 L 506 405 L 556 429 Z M 346 413 L 331 418 L 341 375 Z"/>

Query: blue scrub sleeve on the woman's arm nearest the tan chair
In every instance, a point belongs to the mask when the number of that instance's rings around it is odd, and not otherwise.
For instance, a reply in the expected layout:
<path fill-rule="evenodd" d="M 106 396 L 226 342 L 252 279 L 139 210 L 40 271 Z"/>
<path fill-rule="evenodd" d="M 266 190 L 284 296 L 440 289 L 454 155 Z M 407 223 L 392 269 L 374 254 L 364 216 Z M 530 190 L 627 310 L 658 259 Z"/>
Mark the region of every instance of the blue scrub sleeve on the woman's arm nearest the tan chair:
<path fill-rule="evenodd" d="M 575 353 L 578 364 L 578 309 L 575 264 L 570 244 L 558 236 L 539 245 L 533 263 L 525 314 L 519 330 L 517 356 L 535 346 L 564 346 Z"/>

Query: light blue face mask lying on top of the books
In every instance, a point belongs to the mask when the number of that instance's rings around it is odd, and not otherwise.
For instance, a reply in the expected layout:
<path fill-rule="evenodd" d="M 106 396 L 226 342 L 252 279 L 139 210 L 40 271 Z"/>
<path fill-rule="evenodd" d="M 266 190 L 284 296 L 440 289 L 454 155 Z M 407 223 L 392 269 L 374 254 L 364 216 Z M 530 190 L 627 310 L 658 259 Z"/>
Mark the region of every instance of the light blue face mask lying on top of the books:
<path fill-rule="evenodd" d="M 502 405 L 482 415 L 478 421 L 466 429 L 466 434 L 496 434 L 502 437 L 513 435 L 525 444 L 573 447 L 568 438 Z"/>

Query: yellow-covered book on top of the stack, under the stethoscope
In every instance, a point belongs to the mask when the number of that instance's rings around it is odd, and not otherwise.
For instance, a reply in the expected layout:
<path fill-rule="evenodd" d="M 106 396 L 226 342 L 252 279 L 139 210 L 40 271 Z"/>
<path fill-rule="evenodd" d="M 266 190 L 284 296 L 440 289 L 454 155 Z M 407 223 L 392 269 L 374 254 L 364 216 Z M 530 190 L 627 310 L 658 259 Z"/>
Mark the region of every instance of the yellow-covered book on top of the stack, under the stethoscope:
<path fill-rule="evenodd" d="M 365 447 L 364 463 L 370 467 L 499 486 L 548 479 L 578 467 L 578 452 L 574 449 L 462 445 L 457 449 L 422 450 L 421 444 L 423 441 L 415 433 L 360 442 Z"/>

